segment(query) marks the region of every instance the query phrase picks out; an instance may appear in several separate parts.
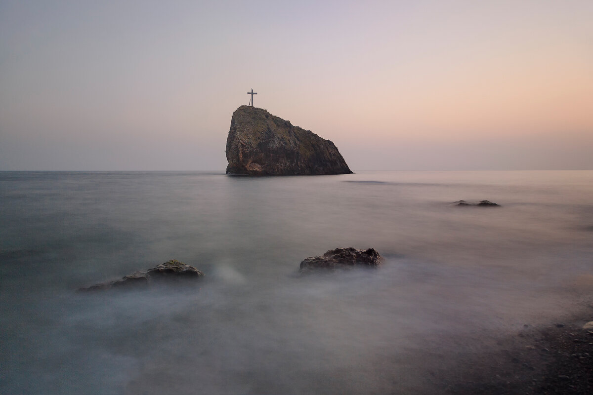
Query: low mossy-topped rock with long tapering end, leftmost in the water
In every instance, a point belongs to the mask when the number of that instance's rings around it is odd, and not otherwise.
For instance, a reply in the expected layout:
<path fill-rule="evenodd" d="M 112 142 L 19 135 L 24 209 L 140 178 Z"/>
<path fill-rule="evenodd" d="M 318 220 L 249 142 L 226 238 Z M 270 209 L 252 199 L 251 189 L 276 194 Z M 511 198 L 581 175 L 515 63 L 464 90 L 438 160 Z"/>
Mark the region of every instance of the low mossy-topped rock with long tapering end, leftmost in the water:
<path fill-rule="evenodd" d="M 148 269 L 145 272 L 135 272 L 134 274 L 127 275 L 122 280 L 102 282 L 100 284 L 91 285 L 87 288 L 79 288 L 79 291 L 95 291 L 104 290 L 112 287 L 122 287 L 123 285 L 148 285 L 152 281 L 160 281 L 164 279 L 178 280 L 181 278 L 198 278 L 204 274 L 193 266 L 184 264 L 183 262 L 177 261 L 177 259 L 171 259 L 155 266 L 152 269 Z"/>

